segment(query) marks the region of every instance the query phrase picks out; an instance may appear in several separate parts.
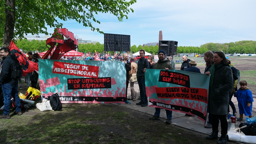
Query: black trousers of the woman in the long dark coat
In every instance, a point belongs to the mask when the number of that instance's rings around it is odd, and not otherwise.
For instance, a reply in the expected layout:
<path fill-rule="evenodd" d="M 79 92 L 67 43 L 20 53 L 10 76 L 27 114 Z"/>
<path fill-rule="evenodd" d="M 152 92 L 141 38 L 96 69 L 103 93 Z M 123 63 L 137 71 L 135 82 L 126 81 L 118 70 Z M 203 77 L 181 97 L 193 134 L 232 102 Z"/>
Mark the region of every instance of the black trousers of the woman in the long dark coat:
<path fill-rule="evenodd" d="M 212 131 L 217 132 L 219 127 L 219 120 L 221 121 L 221 135 L 224 136 L 227 134 L 227 118 L 226 115 L 215 115 L 212 114 Z"/>

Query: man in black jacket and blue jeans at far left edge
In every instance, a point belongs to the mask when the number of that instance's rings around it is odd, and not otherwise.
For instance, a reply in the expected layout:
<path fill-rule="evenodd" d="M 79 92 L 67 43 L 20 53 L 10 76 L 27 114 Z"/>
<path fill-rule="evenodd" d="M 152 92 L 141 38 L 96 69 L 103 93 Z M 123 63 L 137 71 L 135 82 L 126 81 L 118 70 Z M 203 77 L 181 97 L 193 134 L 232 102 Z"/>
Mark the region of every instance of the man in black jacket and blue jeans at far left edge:
<path fill-rule="evenodd" d="M 1 69 L 0 82 L 2 83 L 2 90 L 4 94 L 4 113 L 0 118 L 10 118 L 11 97 L 15 99 L 16 114 L 22 115 L 20 99 L 18 95 L 18 79 L 12 76 L 14 54 L 10 53 L 10 49 L 1 48 L 0 56 L 4 59 L 3 67 Z"/>

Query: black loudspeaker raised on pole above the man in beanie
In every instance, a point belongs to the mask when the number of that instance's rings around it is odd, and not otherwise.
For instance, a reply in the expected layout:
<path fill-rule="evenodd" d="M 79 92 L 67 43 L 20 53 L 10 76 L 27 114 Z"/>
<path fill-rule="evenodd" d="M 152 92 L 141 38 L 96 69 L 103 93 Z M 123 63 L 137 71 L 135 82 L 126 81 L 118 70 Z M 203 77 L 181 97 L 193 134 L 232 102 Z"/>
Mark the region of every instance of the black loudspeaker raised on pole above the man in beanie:
<path fill-rule="evenodd" d="M 177 41 L 159 41 L 159 50 L 164 50 L 166 56 L 177 54 Z"/>

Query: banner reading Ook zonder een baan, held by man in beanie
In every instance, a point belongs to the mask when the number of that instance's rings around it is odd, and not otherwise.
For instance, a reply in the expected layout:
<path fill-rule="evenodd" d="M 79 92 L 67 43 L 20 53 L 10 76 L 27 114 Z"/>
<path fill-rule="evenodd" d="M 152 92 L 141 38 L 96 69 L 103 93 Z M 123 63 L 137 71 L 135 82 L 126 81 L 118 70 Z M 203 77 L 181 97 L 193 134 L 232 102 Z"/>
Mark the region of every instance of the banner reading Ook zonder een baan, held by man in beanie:
<path fill-rule="evenodd" d="M 210 76 L 201 73 L 147 69 L 148 105 L 190 114 L 205 121 Z"/>

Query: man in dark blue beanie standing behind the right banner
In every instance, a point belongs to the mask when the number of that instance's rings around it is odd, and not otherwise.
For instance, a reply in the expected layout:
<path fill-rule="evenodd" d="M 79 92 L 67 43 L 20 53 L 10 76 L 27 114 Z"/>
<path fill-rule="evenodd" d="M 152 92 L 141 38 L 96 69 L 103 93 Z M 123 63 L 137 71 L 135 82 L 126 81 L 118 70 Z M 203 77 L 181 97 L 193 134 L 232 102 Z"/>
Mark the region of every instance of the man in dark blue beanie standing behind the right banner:
<path fill-rule="evenodd" d="M 158 58 L 159 58 L 159 60 L 154 65 L 154 69 L 165 69 L 166 71 L 168 71 L 169 69 L 173 69 L 173 67 L 170 63 L 170 60 L 168 58 L 165 58 L 164 50 L 159 50 Z M 161 108 L 155 107 L 155 114 L 152 118 L 149 118 L 149 119 L 150 120 L 160 120 L 160 111 L 161 111 Z M 172 122 L 172 113 L 173 113 L 173 111 L 166 110 L 167 120 L 165 122 L 167 124 L 171 124 L 171 122 Z"/>

